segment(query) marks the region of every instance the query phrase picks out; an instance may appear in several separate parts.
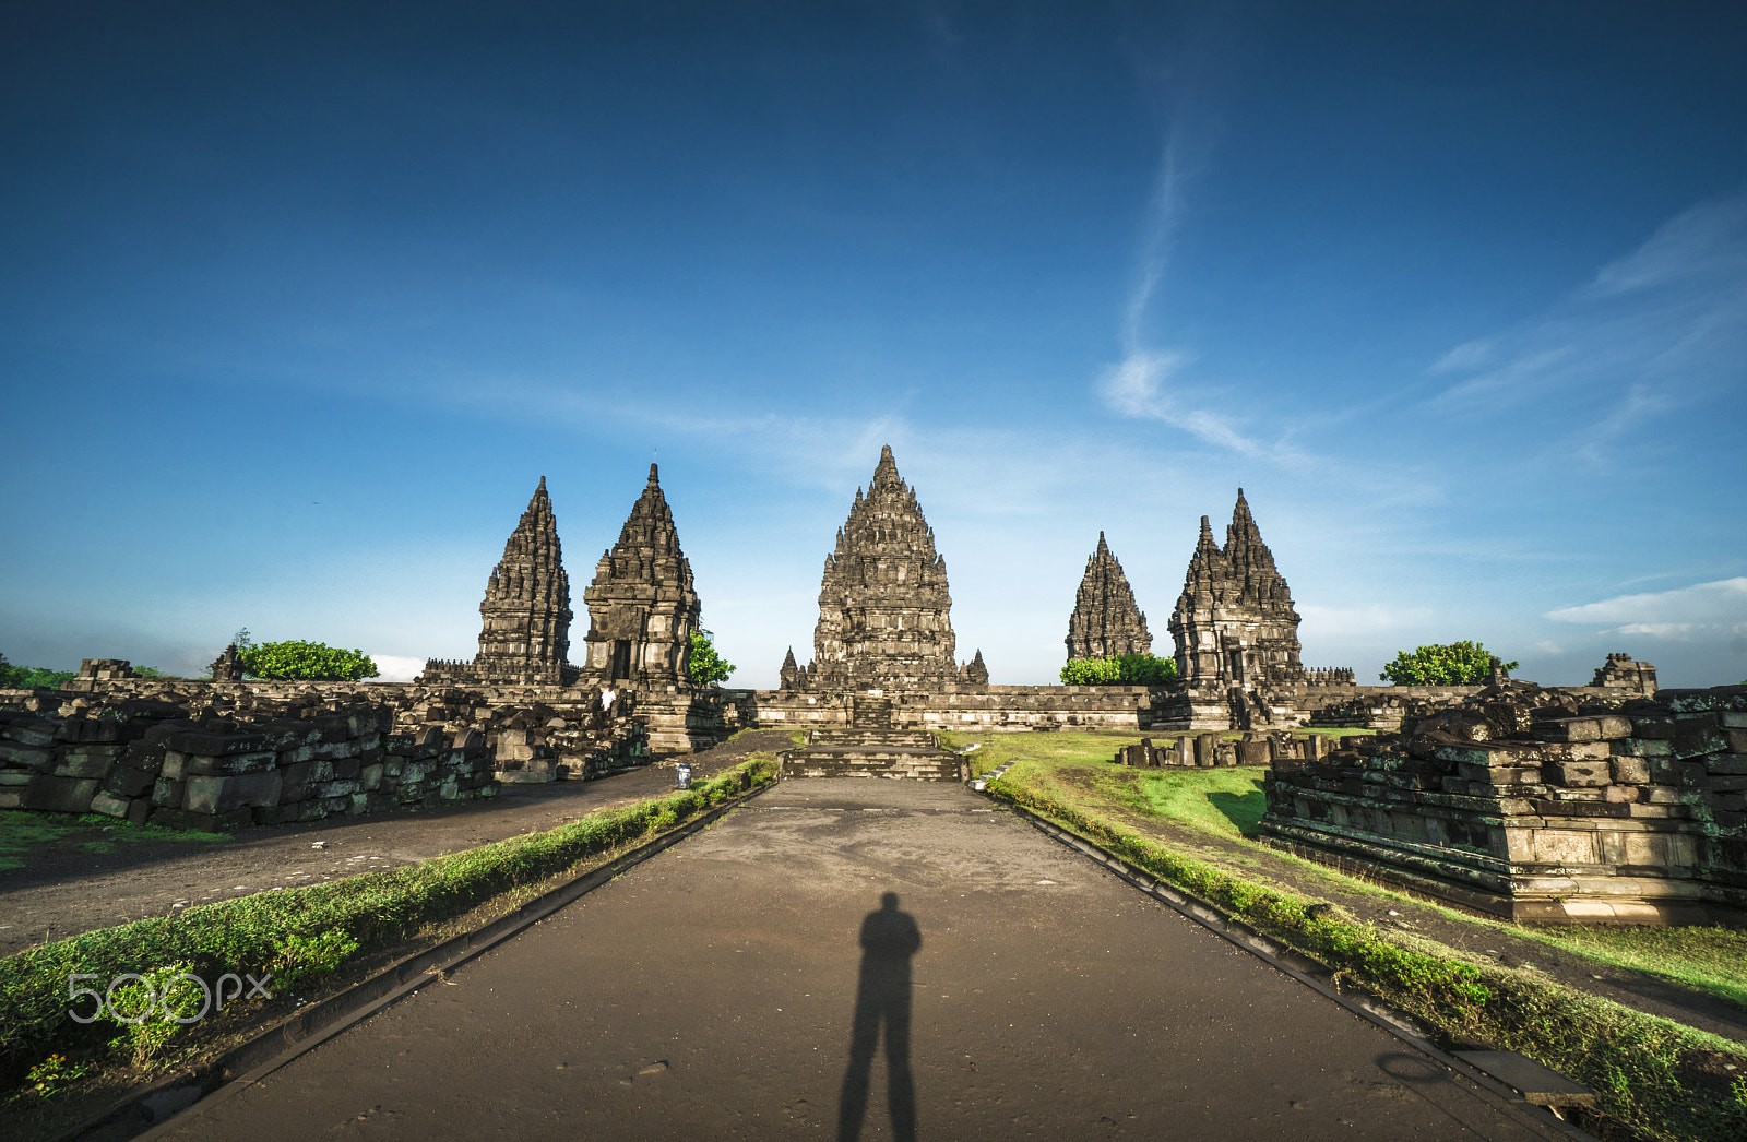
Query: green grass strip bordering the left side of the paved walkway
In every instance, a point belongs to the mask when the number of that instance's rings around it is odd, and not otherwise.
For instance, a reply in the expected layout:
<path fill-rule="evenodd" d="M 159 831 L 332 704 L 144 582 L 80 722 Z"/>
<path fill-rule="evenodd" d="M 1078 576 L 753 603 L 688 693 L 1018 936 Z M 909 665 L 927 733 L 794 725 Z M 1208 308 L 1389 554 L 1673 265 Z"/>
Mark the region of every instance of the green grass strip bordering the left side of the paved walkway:
<path fill-rule="evenodd" d="M 688 791 L 592 812 L 545 833 L 330 884 L 201 905 L 0 959 L 0 1090 L 23 1093 L 28 1070 L 51 1055 L 101 1062 L 112 1053 L 114 1025 L 72 1018 L 68 988 L 75 973 L 96 976 L 100 990 L 121 974 L 168 964 L 190 964 L 208 980 L 224 973 L 260 976 L 295 962 L 297 950 L 330 941 L 332 932 L 355 941 L 355 955 L 376 952 L 594 854 L 671 829 L 774 777 L 774 763 L 755 756 Z"/>

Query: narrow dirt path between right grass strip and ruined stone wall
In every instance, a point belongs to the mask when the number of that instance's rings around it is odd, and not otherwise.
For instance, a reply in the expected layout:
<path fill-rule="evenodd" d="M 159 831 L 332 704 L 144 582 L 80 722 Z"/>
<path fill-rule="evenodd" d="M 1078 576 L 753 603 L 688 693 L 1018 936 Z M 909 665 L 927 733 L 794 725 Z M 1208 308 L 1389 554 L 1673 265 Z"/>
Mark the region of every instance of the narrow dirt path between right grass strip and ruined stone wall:
<path fill-rule="evenodd" d="M 1088 777 L 1076 777 L 1071 768 L 1059 770 L 1059 775 L 1074 781 L 1085 796 L 1099 796 Z M 1151 836 L 1183 856 L 1219 864 L 1247 878 L 1279 885 L 1288 892 L 1326 899 L 1368 924 L 1424 936 L 1474 959 L 1536 971 L 1571 988 L 1612 999 L 1626 1008 L 1660 1015 L 1728 1039 L 1747 1041 L 1747 1011 L 1726 999 L 1644 973 L 1595 962 L 1574 952 L 1520 936 L 1504 924 L 1452 918 L 1417 899 L 1384 898 L 1343 887 L 1328 871 L 1315 866 L 1307 868 L 1261 845 L 1148 817 L 1109 800 L 1102 800 L 1102 805 L 1106 812 L 1137 833 Z"/>

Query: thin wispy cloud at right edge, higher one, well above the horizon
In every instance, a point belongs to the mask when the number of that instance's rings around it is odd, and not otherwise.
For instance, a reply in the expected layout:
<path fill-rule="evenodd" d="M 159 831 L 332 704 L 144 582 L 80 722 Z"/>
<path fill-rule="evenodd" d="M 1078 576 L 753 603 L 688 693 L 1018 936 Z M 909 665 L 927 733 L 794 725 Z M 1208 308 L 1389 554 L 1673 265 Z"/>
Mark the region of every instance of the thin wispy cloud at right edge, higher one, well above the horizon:
<path fill-rule="evenodd" d="M 1700 203 L 1602 265 L 1546 313 L 1455 346 L 1431 367 L 1443 412 L 1490 414 L 1585 393 L 1590 461 L 1647 417 L 1747 379 L 1747 192 Z M 1600 400 L 1595 400 L 1600 396 Z"/>

